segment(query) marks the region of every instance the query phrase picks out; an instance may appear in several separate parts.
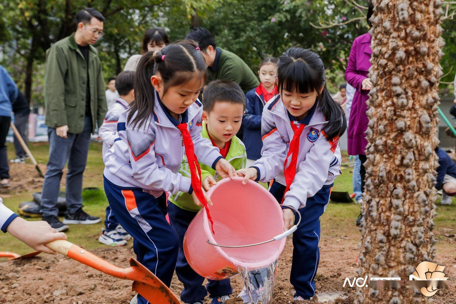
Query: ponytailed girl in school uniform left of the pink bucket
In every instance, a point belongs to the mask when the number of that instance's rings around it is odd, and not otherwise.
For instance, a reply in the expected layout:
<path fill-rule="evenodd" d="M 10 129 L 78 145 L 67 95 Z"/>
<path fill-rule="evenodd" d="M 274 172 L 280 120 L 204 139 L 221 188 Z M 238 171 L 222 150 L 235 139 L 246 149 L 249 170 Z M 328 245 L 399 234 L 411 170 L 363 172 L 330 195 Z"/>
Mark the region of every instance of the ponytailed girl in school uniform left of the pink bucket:
<path fill-rule="evenodd" d="M 198 161 L 223 177 L 236 175 L 209 139 L 202 138 L 206 63 L 194 41 L 145 53 L 135 74 L 135 101 L 120 115 L 117 138 L 104 155 L 104 191 L 109 206 L 134 238 L 137 259 L 167 286 L 179 242 L 166 221 L 166 191 L 192 195 L 197 206 L 211 205 L 201 188 Z M 184 152 L 191 179 L 178 173 Z M 131 303 L 148 303 L 136 295 Z"/>

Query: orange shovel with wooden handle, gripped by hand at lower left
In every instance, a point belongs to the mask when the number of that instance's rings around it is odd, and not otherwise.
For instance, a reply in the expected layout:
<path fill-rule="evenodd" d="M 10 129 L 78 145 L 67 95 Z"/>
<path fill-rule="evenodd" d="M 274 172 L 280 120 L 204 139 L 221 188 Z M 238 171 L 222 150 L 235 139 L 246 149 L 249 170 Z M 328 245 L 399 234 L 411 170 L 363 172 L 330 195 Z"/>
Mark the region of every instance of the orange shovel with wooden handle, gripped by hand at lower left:
<path fill-rule="evenodd" d="M 134 258 L 130 258 L 129 268 L 119 268 L 106 262 L 104 259 L 97 257 L 93 253 L 65 240 L 49 242 L 46 244 L 46 247 L 113 277 L 132 280 L 132 289 L 142 295 L 150 303 L 181 303 L 159 278 Z"/>

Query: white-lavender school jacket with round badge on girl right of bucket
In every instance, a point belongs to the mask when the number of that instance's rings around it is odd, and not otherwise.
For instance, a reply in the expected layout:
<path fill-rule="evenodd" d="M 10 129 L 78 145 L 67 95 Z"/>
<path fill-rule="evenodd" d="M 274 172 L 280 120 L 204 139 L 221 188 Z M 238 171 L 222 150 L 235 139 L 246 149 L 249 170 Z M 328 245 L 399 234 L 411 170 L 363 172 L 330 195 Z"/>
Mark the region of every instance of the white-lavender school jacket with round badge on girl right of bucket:
<path fill-rule="evenodd" d="M 293 139 L 291 121 L 295 120 L 285 108 L 282 99 L 271 99 L 264 106 L 261 120 L 263 149 L 261 158 L 254 162 L 259 175 L 257 180 L 268 182 L 276 178 L 286 185 L 283 175 L 285 158 Z M 342 174 L 339 139 L 327 141 L 323 131 L 326 119 L 318 110 L 318 102 L 297 126 L 305 124 L 299 143 L 296 175 L 285 194 L 284 204 L 296 209 L 306 206 L 308 197 L 314 196 L 323 187 L 332 187 L 333 180 Z M 290 164 L 291 156 L 288 164 Z"/>

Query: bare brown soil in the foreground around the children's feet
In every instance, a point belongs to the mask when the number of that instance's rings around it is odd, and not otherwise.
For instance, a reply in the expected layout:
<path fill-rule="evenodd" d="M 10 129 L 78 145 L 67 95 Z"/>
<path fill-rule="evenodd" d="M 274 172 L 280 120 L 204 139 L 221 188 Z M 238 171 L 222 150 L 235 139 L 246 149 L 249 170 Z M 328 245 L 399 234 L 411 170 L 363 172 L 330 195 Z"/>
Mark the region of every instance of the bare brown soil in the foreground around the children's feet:
<path fill-rule="evenodd" d="M 343 237 L 325 237 L 320 242 L 320 265 L 316 275 L 316 297 L 311 301 L 293 301 L 294 290 L 289 282 L 292 244 L 290 237 L 282 253 L 277 270 L 274 304 L 334 303 L 352 304 L 355 289 L 342 287 L 346 277 L 356 276 L 359 232 Z M 99 248 L 93 253 L 119 267 L 128 267 L 128 258 L 135 254 L 129 246 Z M 446 265 L 446 274 L 456 277 L 452 252 L 437 254 L 435 261 Z M 451 283 L 451 282 L 450 282 Z M 239 277 L 232 279 L 234 295 L 243 285 Z M 179 295 L 182 284 L 174 276 L 171 290 Z M 129 303 L 134 296 L 130 281 L 110 277 L 61 255 L 41 255 L 30 260 L 0 262 L 0 303 Z M 339 293 L 331 302 L 319 302 L 322 294 Z M 456 287 L 442 289 L 433 297 L 434 303 L 456 303 Z M 209 303 L 207 301 L 207 303 Z M 228 304 L 242 303 L 230 299 Z"/>

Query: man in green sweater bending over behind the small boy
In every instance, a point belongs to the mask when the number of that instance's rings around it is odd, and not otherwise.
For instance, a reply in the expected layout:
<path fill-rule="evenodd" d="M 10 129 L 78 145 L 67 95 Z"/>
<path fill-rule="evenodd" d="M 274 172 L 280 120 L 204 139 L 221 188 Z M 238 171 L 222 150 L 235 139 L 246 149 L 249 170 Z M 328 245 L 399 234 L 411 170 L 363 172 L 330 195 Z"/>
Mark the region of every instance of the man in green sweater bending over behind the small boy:
<path fill-rule="evenodd" d="M 244 94 L 258 87 L 258 78 L 244 60 L 232 52 L 217 47 L 211 32 L 204 27 L 192 29 L 185 39 L 198 42 L 202 56 L 206 59 L 209 80 L 222 79 L 236 82 Z M 236 135 L 242 140 L 243 134 L 244 128 L 241 126 Z"/>

